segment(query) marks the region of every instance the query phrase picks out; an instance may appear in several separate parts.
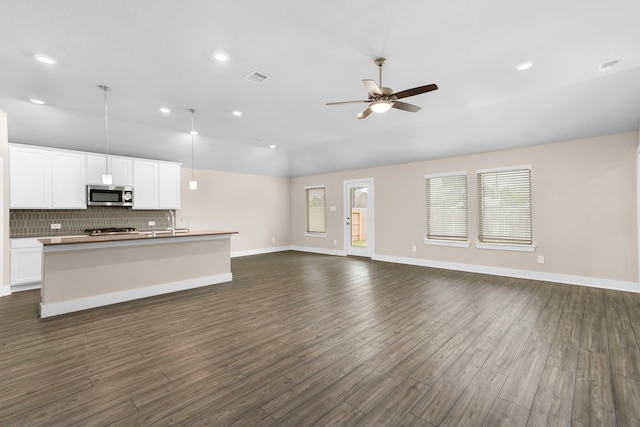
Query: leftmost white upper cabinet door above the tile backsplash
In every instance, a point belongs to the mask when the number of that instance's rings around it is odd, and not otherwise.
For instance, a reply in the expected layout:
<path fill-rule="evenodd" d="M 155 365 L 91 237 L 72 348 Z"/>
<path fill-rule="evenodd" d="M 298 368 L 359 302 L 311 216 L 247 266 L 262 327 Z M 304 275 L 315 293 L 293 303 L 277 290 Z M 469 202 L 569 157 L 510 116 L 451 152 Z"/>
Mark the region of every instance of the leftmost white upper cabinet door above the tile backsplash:
<path fill-rule="evenodd" d="M 9 146 L 9 191 L 12 208 L 51 207 L 49 151 Z"/>

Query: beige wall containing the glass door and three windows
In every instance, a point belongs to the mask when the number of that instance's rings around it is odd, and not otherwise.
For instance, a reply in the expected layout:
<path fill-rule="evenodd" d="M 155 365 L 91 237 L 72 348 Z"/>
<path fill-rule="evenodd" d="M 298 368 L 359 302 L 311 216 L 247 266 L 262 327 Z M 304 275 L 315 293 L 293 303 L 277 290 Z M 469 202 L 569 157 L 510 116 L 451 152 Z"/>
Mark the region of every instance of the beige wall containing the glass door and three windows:
<path fill-rule="evenodd" d="M 291 244 L 344 252 L 343 181 L 375 179 L 373 259 L 640 291 L 638 133 L 291 179 Z M 533 253 L 478 249 L 476 170 L 530 164 Z M 424 175 L 469 173 L 469 248 L 426 246 Z M 327 237 L 304 236 L 304 187 L 326 186 Z M 333 241 L 337 240 L 337 245 Z M 412 246 L 417 247 L 415 253 Z M 538 255 L 545 257 L 538 264 Z"/>

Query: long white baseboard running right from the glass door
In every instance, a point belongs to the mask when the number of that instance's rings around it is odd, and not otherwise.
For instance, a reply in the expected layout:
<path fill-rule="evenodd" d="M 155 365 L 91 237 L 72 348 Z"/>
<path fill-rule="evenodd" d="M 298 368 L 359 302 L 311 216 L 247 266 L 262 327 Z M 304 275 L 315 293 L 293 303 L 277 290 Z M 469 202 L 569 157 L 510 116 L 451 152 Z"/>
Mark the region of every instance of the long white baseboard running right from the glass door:
<path fill-rule="evenodd" d="M 622 280 L 600 279 L 596 277 L 576 276 L 571 274 L 547 273 L 542 271 L 518 270 L 514 268 L 491 267 L 475 264 L 461 264 L 419 258 L 404 258 L 390 255 L 374 255 L 375 261 L 398 264 L 418 265 L 422 267 L 443 268 L 446 270 L 468 271 L 470 273 L 493 274 L 494 276 L 516 277 L 520 279 L 542 280 L 545 282 L 567 283 L 570 285 L 589 286 L 593 288 L 611 289 L 615 291 L 640 293 L 640 283 Z"/>

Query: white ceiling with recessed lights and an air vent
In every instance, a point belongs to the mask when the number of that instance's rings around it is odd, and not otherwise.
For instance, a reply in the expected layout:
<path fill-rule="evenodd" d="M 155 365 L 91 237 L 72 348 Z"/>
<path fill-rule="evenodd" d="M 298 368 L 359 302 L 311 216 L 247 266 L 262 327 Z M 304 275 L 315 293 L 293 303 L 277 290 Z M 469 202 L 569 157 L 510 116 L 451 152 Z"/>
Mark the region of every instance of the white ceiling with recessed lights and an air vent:
<path fill-rule="evenodd" d="M 405 99 L 417 113 L 325 106 L 366 99 L 379 56 L 385 86 L 439 90 Z M 637 131 L 640 1 L 1 0 L 11 142 L 104 151 L 99 84 L 111 152 L 190 166 L 195 108 L 196 168 L 268 175 Z"/>

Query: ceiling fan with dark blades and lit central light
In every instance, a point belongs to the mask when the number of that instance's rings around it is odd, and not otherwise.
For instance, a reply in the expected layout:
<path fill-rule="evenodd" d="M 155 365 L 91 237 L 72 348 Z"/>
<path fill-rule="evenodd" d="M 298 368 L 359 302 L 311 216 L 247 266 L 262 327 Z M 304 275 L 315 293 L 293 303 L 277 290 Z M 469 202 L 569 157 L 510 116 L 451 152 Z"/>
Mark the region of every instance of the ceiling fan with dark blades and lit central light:
<path fill-rule="evenodd" d="M 435 84 L 430 84 L 394 93 L 391 88 L 382 86 L 382 66 L 385 64 L 385 62 L 387 62 L 385 58 L 377 58 L 375 60 L 375 63 L 380 71 L 379 84 L 376 84 L 376 82 L 370 79 L 362 80 L 362 83 L 364 83 L 364 86 L 367 88 L 367 92 L 369 93 L 369 99 L 363 101 L 327 102 L 327 105 L 355 104 L 360 102 L 368 103 L 369 105 L 367 106 L 367 109 L 358 114 L 358 119 L 364 119 L 368 117 L 372 112 L 384 113 L 390 108 L 397 108 L 398 110 L 410 111 L 412 113 L 420 111 L 421 108 L 417 105 L 398 101 L 398 99 L 420 95 L 421 93 L 425 92 L 431 92 L 432 90 L 438 89 L 438 86 Z"/>

